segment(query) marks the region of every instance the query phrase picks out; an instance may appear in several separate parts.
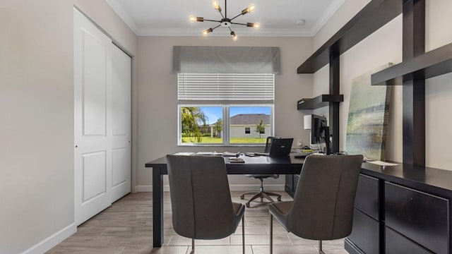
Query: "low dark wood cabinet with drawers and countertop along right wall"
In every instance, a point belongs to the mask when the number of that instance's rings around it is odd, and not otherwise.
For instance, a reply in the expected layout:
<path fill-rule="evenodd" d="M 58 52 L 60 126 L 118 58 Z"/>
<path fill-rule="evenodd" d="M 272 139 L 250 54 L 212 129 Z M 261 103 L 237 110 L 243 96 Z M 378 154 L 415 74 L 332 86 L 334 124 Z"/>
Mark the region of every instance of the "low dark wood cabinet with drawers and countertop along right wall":
<path fill-rule="evenodd" d="M 451 253 L 452 171 L 362 164 L 349 253 Z"/>

